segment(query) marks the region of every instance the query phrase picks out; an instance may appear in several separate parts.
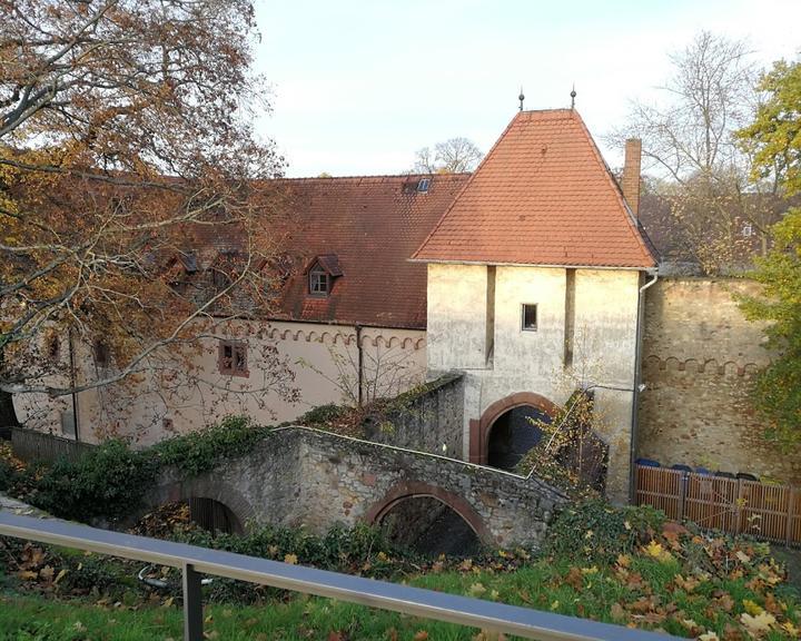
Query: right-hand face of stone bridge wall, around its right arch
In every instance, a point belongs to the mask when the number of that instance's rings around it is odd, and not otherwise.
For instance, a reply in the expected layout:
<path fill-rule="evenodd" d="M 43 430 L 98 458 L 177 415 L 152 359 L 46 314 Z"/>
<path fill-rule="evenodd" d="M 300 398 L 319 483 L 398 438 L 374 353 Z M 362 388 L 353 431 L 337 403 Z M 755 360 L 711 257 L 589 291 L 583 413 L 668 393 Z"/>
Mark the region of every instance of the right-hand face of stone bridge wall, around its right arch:
<path fill-rule="evenodd" d="M 467 511 L 478 516 L 486 531 L 474 529 L 485 543 L 538 545 L 564 501 L 536 479 L 326 433 L 304 440 L 301 461 L 308 481 L 299 503 L 308 510 L 303 521 L 313 530 L 336 521 L 372 522 L 388 499 L 435 490 L 446 501 L 456 499 L 451 506 L 462 516 Z"/>

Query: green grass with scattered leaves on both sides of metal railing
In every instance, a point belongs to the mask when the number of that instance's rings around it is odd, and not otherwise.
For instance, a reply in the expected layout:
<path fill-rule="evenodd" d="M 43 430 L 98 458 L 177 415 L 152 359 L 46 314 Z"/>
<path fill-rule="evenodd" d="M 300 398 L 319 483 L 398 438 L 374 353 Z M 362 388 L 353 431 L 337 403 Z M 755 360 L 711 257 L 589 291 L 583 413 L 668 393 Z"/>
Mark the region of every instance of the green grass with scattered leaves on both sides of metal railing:
<path fill-rule="evenodd" d="M 578 615 L 606 622 L 624 623 L 615 619 L 615 603 L 635 603 L 643 594 L 652 602 L 650 611 L 666 610 L 656 615 L 652 628 L 661 628 L 676 635 L 698 635 L 715 632 L 725 635 L 726 625 L 736 621 L 746 601 L 762 602 L 761 595 L 743 579 L 709 581 L 686 591 L 675 586 L 682 571 L 678 562 L 661 562 L 643 556 L 631 559 L 631 572 L 642 576 L 647 589 L 627 585 L 610 569 L 577 569 L 568 561 L 537 562 L 515 572 L 495 573 L 487 570 L 428 573 L 413 578 L 409 583 L 421 588 L 467 594 L 516 605 Z M 712 608 L 718 594 L 731 595 L 734 607 L 726 613 Z M 653 603 L 655 602 L 655 605 Z M 790 596 L 788 620 L 799 624 L 798 602 Z M 211 639 L 332 641 L 423 639 L 473 640 L 475 629 L 434 622 L 359 605 L 287 594 L 265 600 L 259 605 L 210 604 L 206 607 L 205 631 Z M 626 612 L 625 614 L 630 614 Z M 620 613 L 619 613 L 620 617 Z M 660 619 L 661 618 L 661 619 Z M 657 620 L 659 619 L 659 620 Z M 57 600 L 34 594 L 0 596 L 0 640 L 139 641 L 181 638 L 180 605 L 159 604 L 141 599 L 135 605 L 95 604 L 87 599 Z M 637 622 L 636 615 L 632 619 Z M 691 624 L 686 623 L 690 621 Z M 642 624 L 642 622 L 641 622 Z M 745 638 L 745 637 L 744 637 Z M 773 630 L 764 639 L 793 638 L 782 630 Z"/>

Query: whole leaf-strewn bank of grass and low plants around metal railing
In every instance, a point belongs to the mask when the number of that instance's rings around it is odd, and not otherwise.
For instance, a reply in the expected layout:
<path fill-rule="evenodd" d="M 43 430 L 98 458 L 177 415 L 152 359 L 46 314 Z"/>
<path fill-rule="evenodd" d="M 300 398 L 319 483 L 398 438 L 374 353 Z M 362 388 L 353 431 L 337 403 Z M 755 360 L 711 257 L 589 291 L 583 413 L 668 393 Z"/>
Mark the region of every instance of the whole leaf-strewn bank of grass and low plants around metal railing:
<path fill-rule="evenodd" d="M 801 596 L 767 544 L 701 533 L 642 507 L 577 504 L 552 523 L 537 558 L 496 550 L 424 560 L 385 550 L 379 533 L 365 529 L 325 538 L 270 526 L 244 538 L 179 531 L 195 544 L 705 641 L 801 639 Z M 150 592 L 135 579 L 140 568 L 0 539 L 0 641 L 180 639 L 179 576 L 166 573 L 170 588 Z M 246 583 L 216 580 L 205 590 L 211 639 L 494 639 Z"/>

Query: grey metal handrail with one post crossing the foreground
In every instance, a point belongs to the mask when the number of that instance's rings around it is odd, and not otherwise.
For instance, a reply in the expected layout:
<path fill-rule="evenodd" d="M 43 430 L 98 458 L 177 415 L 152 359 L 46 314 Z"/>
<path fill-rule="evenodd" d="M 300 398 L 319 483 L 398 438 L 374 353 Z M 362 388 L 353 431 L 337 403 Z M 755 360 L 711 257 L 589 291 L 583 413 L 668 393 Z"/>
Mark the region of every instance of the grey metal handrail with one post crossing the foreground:
<path fill-rule="evenodd" d="M 350 576 L 303 565 L 209 550 L 196 545 L 98 530 L 58 520 L 19 516 L 0 511 L 0 535 L 77 548 L 181 569 L 184 573 L 184 639 L 202 639 L 200 575 L 214 574 L 317 596 L 390 610 L 437 621 L 483 628 L 543 641 L 591 639 L 665 641 L 675 639 L 552 612 L 506 605 L 386 581 Z"/>

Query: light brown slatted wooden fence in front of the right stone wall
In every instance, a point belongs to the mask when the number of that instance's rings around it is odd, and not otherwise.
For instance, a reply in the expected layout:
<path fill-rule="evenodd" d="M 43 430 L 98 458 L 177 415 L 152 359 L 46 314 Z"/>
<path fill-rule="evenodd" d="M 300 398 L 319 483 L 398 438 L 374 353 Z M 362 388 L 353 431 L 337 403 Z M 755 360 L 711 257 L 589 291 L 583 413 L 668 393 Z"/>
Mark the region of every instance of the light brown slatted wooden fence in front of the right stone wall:
<path fill-rule="evenodd" d="M 637 505 L 653 505 L 670 519 L 801 545 L 801 487 L 644 465 L 636 466 L 635 487 Z"/>

